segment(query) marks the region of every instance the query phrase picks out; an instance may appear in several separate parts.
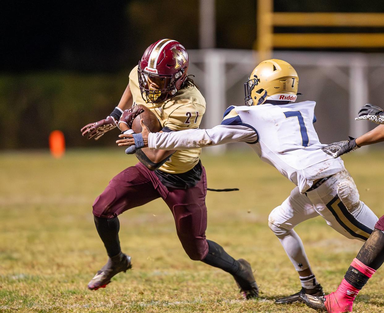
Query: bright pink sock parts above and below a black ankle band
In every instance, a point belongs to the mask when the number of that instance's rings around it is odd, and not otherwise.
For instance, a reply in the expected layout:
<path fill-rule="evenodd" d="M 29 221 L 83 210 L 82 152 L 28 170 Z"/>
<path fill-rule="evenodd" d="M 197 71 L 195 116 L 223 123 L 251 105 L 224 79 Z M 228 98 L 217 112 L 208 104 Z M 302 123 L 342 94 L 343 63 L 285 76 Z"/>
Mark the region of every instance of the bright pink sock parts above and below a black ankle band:
<path fill-rule="evenodd" d="M 376 272 L 373 268 L 368 267 L 357 258 L 354 258 L 351 267 L 356 268 L 368 278 L 371 278 Z M 329 313 L 352 312 L 353 301 L 359 291 L 358 288 L 353 287 L 343 278 L 337 290 L 326 296 L 326 309 Z"/>

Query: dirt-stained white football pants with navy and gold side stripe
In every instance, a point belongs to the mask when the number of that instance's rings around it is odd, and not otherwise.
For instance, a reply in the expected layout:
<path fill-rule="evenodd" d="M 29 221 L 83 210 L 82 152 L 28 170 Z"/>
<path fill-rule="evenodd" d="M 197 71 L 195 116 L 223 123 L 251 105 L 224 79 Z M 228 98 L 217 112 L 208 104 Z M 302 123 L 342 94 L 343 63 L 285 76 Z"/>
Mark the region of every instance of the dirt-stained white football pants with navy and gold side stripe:
<path fill-rule="evenodd" d="M 367 240 L 377 216 L 359 200 L 358 189 L 347 170 L 329 177 L 318 188 L 301 194 L 298 187 L 268 217 L 291 262 L 300 272 L 310 268 L 303 243 L 293 228 L 321 215 L 334 230 L 347 238 Z"/>

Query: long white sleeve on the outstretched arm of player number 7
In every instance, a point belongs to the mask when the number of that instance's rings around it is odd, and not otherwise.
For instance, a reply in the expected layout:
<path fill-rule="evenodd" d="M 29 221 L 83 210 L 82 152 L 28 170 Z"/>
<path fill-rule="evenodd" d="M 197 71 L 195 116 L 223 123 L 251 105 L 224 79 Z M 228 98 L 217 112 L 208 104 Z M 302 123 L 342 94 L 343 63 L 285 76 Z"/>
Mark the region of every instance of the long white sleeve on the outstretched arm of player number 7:
<path fill-rule="evenodd" d="M 255 142 L 257 132 L 245 125 L 218 125 L 211 129 L 187 129 L 173 132 L 151 132 L 149 149 L 188 150 L 230 142 Z"/>

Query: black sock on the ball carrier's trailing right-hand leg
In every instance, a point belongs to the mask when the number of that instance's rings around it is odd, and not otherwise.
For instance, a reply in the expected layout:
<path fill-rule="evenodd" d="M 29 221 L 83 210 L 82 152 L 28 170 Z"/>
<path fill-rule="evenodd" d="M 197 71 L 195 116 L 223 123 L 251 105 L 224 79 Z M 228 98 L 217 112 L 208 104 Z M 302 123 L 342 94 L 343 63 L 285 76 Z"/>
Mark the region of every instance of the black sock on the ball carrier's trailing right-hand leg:
<path fill-rule="evenodd" d="M 209 250 L 202 262 L 221 268 L 232 275 L 236 274 L 240 269 L 240 263 L 225 252 L 223 247 L 216 242 L 211 240 L 207 240 L 207 242 Z"/>

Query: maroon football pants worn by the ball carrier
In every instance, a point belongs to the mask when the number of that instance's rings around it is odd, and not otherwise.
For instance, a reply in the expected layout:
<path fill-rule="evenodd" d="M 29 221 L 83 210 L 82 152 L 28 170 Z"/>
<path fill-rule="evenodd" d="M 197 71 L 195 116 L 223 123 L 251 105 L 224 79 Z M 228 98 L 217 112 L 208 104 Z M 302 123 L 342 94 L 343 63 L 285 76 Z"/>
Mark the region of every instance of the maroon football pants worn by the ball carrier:
<path fill-rule="evenodd" d="M 156 174 L 141 163 L 128 167 L 109 182 L 93 204 L 93 214 L 111 219 L 122 212 L 161 197 L 171 210 L 180 242 L 192 260 L 203 260 L 208 253 L 207 180 L 205 169 L 200 181 L 187 189 L 164 186 Z"/>

